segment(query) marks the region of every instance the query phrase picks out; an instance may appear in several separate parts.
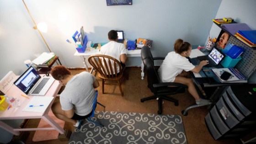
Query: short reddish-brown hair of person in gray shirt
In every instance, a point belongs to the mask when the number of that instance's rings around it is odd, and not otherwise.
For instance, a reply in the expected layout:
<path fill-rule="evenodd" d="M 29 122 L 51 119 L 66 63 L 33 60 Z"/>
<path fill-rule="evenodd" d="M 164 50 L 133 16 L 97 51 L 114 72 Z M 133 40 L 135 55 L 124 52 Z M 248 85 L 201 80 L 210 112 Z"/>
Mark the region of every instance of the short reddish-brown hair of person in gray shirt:
<path fill-rule="evenodd" d="M 71 75 L 71 72 L 63 65 L 57 65 L 51 70 L 51 75 L 55 80 L 64 80 L 67 75 Z"/>

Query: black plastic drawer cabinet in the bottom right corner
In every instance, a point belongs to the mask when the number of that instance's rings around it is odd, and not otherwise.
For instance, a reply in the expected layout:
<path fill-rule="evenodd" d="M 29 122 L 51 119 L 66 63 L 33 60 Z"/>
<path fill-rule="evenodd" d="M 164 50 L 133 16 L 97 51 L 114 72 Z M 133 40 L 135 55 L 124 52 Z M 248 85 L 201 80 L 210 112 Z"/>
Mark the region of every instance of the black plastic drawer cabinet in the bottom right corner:
<path fill-rule="evenodd" d="M 256 84 L 229 86 L 205 123 L 215 140 L 238 139 L 255 130 Z"/>

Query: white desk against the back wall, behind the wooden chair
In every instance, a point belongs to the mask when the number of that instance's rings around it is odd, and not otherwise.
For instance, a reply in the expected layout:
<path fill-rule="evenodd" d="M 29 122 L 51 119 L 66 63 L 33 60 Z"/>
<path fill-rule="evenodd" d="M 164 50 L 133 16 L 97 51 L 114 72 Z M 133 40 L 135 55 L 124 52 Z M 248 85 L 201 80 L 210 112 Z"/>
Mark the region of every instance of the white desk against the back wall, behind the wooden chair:
<path fill-rule="evenodd" d="M 85 69 L 89 72 L 89 69 L 88 69 L 88 66 L 85 62 L 85 57 L 89 57 L 91 55 L 94 55 L 94 54 L 100 54 L 100 51 L 99 49 L 94 49 L 94 48 L 91 48 L 90 49 L 91 51 L 89 52 L 87 49 L 85 50 L 85 53 L 78 53 L 77 51 L 75 52 L 75 56 L 80 56 L 81 60 L 84 62 L 84 65 L 85 65 Z M 141 53 L 141 49 L 135 49 L 135 50 L 128 50 L 126 49 L 126 53 L 127 53 L 127 57 L 141 57 L 140 53 Z M 141 80 L 144 79 L 144 64 L 143 64 L 143 61 L 141 60 Z M 93 71 L 93 67 L 91 68 L 91 72 L 92 73 Z"/>

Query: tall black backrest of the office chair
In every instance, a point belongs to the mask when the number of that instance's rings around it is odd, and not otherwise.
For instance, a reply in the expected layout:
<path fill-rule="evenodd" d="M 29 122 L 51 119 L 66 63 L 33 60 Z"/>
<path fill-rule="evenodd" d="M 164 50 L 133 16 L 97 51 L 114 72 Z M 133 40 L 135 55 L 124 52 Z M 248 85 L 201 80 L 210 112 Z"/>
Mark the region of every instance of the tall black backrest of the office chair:
<path fill-rule="evenodd" d="M 148 46 L 141 49 L 141 59 L 147 69 L 148 86 L 150 91 L 154 92 L 153 84 L 158 84 L 159 78 L 154 66 L 154 59 Z"/>

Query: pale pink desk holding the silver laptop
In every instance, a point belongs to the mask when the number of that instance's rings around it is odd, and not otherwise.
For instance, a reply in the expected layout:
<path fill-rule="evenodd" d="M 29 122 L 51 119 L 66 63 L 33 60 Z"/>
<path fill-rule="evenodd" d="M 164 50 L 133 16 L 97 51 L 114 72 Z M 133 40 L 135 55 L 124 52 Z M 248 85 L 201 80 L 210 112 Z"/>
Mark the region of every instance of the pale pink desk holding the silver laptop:
<path fill-rule="evenodd" d="M 43 75 L 41 75 L 43 77 Z M 53 101 L 57 96 L 62 84 L 59 81 L 55 80 L 53 85 L 51 85 L 50 89 L 47 91 L 45 96 L 53 96 Z M 48 116 L 48 112 L 50 111 L 53 101 L 50 103 L 48 108 L 44 113 L 42 112 L 23 112 L 24 107 L 27 106 L 28 102 L 32 99 L 33 96 L 27 96 L 24 92 L 22 92 L 16 85 L 12 85 L 11 88 L 6 92 L 6 95 L 13 96 L 14 98 L 20 99 L 21 107 L 19 108 L 10 108 L 9 110 L 0 111 L 0 128 L 5 129 L 6 131 L 19 135 L 20 131 L 35 131 L 35 130 L 57 130 L 59 133 L 64 134 L 64 129 L 59 126 L 51 117 Z M 29 97 L 27 99 L 24 96 Z M 7 119 L 32 119 L 32 118 L 43 118 L 47 123 L 49 123 L 53 128 L 12 128 L 11 126 L 3 123 L 1 120 Z"/>

